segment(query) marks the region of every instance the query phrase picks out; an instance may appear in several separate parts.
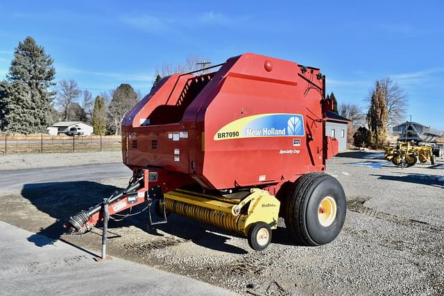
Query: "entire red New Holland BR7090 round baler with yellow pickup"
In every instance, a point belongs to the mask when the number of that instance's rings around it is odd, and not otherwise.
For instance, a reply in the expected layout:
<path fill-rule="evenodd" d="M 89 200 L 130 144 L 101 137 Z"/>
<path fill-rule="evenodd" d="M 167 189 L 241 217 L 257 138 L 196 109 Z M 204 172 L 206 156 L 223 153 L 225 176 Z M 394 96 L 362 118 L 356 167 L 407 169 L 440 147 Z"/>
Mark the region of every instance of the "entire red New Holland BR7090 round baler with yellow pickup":
<path fill-rule="evenodd" d="M 324 173 L 338 150 L 325 136 L 325 76 L 253 53 L 215 67 L 163 78 L 126 114 L 122 155 L 133 178 L 72 216 L 72 232 L 146 203 L 161 222 L 187 216 L 244 234 L 254 250 L 271 242 L 279 216 L 298 245 L 336 238 L 346 207 L 341 184 Z"/>

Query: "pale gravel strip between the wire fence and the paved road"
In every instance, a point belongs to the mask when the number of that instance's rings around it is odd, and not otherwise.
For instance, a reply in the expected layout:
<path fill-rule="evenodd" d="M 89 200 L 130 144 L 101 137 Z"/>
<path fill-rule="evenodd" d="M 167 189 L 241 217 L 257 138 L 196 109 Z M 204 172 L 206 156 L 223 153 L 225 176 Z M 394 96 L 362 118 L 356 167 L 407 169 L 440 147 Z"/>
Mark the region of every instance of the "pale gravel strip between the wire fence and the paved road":
<path fill-rule="evenodd" d="M 121 162 L 121 151 L 98 151 L 88 153 L 42 153 L 0 155 L 0 170 L 25 168 L 51 168 L 56 166 L 80 166 L 82 164 L 109 164 Z"/>

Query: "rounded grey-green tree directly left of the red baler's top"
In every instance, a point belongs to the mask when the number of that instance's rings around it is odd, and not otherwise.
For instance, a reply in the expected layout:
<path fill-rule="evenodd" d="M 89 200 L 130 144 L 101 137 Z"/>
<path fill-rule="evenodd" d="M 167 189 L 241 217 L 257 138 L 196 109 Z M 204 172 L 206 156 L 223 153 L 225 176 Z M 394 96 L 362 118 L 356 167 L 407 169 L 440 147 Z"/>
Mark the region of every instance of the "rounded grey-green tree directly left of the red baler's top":
<path fill-rule="evenodd" d="M 138 101 L 139 96 L 131 85 L 123 83 L 112 92 L 112 99 L 108 106 L 108 130 L 112 134 L 120 134 L 123 116 Z"/>

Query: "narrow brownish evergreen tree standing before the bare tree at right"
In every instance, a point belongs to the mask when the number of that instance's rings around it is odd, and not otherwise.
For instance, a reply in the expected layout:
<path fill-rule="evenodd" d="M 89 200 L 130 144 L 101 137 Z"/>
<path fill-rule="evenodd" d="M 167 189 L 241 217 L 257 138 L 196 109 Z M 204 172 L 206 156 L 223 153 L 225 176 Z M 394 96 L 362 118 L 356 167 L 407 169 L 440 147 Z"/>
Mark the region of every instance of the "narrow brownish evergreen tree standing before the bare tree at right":
<path fill-rule="evenodd" d="M 368 143 L 374 148 L 384 146 L 387 137 L 388 110 L 385 101 L 384 88 L 376 81 L 367 113 Z"/>

